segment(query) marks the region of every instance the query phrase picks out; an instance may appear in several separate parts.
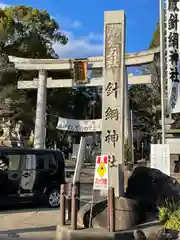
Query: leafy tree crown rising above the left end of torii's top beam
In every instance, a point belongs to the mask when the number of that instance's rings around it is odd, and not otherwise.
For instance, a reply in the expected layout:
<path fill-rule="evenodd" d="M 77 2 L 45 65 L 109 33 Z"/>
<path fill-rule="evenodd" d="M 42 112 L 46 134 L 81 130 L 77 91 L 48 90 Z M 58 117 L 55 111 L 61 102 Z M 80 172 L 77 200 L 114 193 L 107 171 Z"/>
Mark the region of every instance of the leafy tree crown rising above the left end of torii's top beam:
<path fill-rule="evenodd" d="M 2 52 L 29 58 L 57 57 L 52 44 L 68 40 L 46 10 L 26 6 L 0 10 L 0 36 Z"/>

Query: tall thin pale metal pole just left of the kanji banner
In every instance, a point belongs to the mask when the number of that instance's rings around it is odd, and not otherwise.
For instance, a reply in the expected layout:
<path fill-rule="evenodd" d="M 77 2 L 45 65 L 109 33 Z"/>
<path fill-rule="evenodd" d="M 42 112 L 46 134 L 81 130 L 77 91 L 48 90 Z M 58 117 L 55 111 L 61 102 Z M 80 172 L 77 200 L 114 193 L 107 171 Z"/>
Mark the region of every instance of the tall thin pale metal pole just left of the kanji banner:
<path fill-rule="evenodd" d="M 164 0 L 159 0 L 160 9 L 160 74 L 161 74 L 161 124 L 162 144 L 165 144 L 165 68 L 164 68 Z"/>

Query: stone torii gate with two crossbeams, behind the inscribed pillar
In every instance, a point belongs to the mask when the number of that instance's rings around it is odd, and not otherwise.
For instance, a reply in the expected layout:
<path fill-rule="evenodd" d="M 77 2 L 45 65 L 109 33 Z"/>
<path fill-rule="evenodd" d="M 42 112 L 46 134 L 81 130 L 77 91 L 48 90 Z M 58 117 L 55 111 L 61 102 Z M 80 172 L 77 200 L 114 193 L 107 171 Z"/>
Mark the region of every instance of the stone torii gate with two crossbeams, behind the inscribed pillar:
<path fill-rule="evenodd" d="M 125 54 L 125 65 L 139 66 L 153 62 L 154 54 L 159 52 L 159 49 L 153 49 L 146 52 Z M 38 78 L 32 80 L 22 80 L 18 82 L 19 89 L 37 89 L 37 112 L 35 126 L 35 141 L 34 146 L 37 148 L 44 147 L 46 119 L 46 91 L 47 88 L 74 88 L 74 87 L 99 87 L 103 86 L 104 76 L 98 70 L 104 66 L 103 57 L 92 57 L 87 59 L 87 64 L 91 66 L 92 75 L 95 72 L 95 77 L 88 80 L 87 83 L 77 83 L 74 79 L 52 79 L 47 77 L 49 70 L 73 70 L 75 65 L 74 59 L 27 59 L 9 56 L 10 62 L 18 70 L 39 72 Z M 97 71 L 96 71 L 97 70 Z M 128 84 L 150 84 L 151 75 L 128 76 Z"/>

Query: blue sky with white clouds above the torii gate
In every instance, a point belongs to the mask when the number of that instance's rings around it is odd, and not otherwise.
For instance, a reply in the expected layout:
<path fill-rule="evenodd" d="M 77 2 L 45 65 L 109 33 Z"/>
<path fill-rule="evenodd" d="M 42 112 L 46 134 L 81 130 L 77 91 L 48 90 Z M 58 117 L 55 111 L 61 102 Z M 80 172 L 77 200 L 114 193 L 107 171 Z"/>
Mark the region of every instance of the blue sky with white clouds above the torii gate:
<path fill-rule="evenodd" d="M 68 58 L 103 54 L 104 11 L 125 10 L 127 52 L 148 48 L 159 19 L 158 0 L 0 0 L 3 5 L 46 9 L 69 37 L 67 46 L 54 46 L 60 57 Z"/>

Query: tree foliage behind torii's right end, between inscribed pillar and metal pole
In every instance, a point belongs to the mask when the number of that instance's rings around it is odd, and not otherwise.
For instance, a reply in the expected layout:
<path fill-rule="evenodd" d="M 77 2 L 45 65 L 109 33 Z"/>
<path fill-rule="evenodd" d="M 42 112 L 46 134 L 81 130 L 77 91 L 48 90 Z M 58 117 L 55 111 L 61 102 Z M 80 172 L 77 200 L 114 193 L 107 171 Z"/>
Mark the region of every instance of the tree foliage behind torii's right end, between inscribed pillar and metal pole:
<path fill-rule="evenodd" d="M 149 49 L 159 46 L 159 25 L 154 32 L 154 37 L 149 45 Z M 144 132 L 156 134 L 160 127 L 160 68 L 159 53 L 155 55 L 154 61 L 150 65 L 142 66 L 141 74 L 151 74 L 152 83 L 150 85 L 133 85 L 129 89 L 131 108 L 134 110 L 137 125 L 141 126 Z"/>

